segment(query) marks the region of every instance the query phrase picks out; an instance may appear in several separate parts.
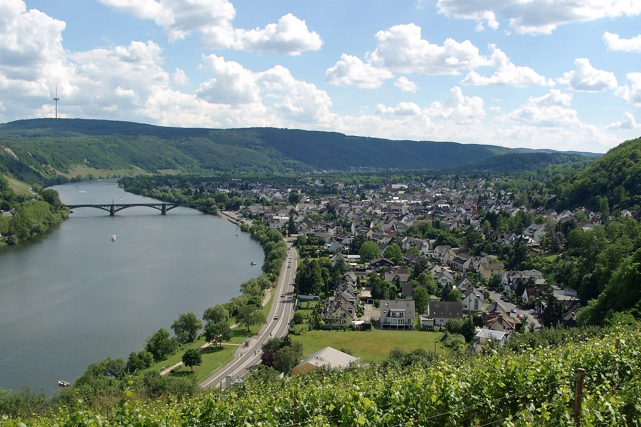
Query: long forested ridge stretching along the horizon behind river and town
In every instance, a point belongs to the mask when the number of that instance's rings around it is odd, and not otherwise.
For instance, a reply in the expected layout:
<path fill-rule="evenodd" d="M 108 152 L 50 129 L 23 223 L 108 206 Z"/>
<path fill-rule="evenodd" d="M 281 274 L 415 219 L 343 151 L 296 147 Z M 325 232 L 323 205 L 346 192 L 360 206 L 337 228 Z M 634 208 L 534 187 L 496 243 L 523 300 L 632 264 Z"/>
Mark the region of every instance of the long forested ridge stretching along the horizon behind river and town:
<path fill-rule="evenodd" d="M 0 170 L 28 182 L 38 175 L 69 173 L 75 165 L 194 173 L 447 169 L 515 152 L 494 145 L 392 141 L 297 129 L 201 129 L 51 118 L 0 124 L 0 145 L 15 154 L 0 149 Z"/>

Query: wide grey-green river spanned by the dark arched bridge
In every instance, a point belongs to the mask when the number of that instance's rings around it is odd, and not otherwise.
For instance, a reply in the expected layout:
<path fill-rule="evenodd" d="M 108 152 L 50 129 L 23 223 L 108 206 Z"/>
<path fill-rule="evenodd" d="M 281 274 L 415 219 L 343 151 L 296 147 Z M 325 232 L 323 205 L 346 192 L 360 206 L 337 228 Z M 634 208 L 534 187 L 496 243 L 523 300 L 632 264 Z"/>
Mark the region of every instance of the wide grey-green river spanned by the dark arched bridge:
<path fill-rule="evenodd" d="M 53 188 L 65 204 L 156 202 L 115 180 Z M 0 388 L 52 392 L 90 362 L 126 358 L 158 329 L 171 332 L 178 314 L 201 317 L 237 296 L 263 261 L 260 245 L 237 230 L 184 207 L 113 217 L 81 208 L 43 236 L 0 248 Z"/>

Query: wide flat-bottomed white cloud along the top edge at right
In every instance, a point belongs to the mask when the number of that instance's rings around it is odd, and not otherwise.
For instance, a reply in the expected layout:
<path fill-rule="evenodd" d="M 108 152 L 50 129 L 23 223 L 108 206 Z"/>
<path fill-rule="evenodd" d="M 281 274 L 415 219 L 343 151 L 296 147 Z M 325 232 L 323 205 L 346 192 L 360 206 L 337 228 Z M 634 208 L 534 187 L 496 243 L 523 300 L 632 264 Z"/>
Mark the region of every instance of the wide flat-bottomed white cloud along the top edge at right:
<path fill-rule="evenodd" d="M 438 0 L 438 12 L 457 19 L 487 20 L 487 13 L 510 21 L 519 34 L 549 34 L 562 24 L 636 16 L 638 0 Z M 488 24 L 489 24 L 488 20 Z M 492 28 L 491 25 L 490 28 Z M 477 29 L 479 29 L 477 27 Z"/>

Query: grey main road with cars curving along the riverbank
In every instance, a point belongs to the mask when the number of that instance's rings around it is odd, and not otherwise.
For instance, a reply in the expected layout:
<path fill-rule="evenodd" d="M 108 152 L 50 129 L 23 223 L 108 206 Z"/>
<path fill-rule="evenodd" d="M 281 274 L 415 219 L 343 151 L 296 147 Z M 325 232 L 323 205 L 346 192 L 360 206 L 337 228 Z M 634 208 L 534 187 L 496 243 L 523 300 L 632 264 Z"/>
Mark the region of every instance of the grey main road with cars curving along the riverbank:
<path fill-rule="evenodd" d="M 267 315 L 267 323 L 258 332 L 258 340 L 253 341 L 249 348 L 239 348 L 234 354 L 234 359 L 201 382 L 201 387 L 221 387 L 222 382 L 222 388 L 225 388 L 225 379 L 228 375 L 231 377 L 231 381 L 237 380 L 245 375 L 249 369 L 260 363 L 260 355 L 262 354 L 260 347 L 265 341 L 272 337 L 287 335 L 294 317 L 294 303 L 296 301 L 292 296 L 294 294 L 294 278 L 296 278 L 296 266 L 298 264 L 296 249 L 288 245 L 288 254 L 291 255 L 292 262 L 285 262 L 281 268 L 278 282 L 276 282 L 272 307 Z M 284 294 L 285 298 L 281 298 L 281 294 Z M 278 319 L 275 319 L 276 316 L 278 316 Z"/>

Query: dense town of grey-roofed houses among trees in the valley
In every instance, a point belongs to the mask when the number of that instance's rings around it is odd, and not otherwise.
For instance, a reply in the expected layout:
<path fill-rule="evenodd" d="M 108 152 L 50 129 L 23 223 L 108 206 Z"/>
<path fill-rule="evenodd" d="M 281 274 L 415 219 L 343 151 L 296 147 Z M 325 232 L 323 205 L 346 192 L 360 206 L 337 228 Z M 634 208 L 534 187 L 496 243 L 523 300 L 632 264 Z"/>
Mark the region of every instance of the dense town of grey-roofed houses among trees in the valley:
<path fill-rule="evenodd" d="M 158 186 L 153 197 L 162 198 L 158 190 L 215 197 L 296 246 L 301 309 L 290 332 L 299 324 L 463 335 L 473 325 L 465 345 L 443 342 L 459 351 L 503 345 L 542 326 L 578 326 L 577 290 L 546 277 L 537 260 L 556 259 L 572 229 L 638 216 L 613 210 L 604 220 L 583 207 L 556 212 L 549 207 L 556 195 L 506 191 L 505 178 L 395 183 L 388 173 L 379 187 L 322 177 L 194 181 Z"/>

